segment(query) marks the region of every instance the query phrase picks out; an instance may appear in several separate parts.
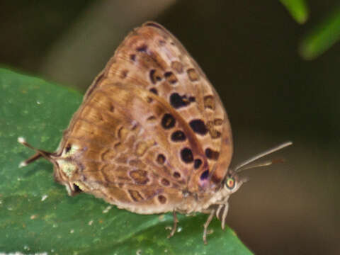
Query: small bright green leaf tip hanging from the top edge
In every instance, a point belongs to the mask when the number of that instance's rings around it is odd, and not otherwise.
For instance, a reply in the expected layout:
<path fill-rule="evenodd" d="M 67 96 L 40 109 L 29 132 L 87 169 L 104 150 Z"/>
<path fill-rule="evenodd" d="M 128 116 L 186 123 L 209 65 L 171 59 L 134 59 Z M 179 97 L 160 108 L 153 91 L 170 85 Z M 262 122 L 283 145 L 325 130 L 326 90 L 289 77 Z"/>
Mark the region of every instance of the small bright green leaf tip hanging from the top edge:
<path fill-rule="evenodd" d="M 280 0 L 297 23 L 303 24 L 308 18 L 308 7 L 305 0 Z"/>

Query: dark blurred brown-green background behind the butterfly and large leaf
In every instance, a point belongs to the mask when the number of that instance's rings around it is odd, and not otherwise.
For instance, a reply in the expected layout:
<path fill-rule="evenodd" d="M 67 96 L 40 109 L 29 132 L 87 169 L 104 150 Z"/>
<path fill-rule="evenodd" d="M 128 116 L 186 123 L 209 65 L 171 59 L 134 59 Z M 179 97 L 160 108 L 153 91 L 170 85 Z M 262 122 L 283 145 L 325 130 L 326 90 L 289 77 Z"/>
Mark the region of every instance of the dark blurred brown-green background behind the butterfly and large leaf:
<path fill-rule="evenodd" d="M 233 164 L 294 142 L 244 173 L 228 225 L 255 254 L 339 254 L 340 6 L 303 3 L 1 1 L 0 65 L 84 92 L 132 28 L 161 23 L 219 92 Z"/>

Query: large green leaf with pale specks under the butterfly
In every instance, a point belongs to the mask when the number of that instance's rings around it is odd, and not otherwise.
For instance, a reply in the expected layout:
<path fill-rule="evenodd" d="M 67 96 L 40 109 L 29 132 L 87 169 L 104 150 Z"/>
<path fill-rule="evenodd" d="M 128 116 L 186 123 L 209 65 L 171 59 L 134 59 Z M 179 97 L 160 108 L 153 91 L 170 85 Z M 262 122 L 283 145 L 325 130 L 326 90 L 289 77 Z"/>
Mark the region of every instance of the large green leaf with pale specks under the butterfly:
<path fill-rule="evenodd" d="M 213 220 L 202 241 L 207 215 L 179 217 L 179 232 L 167 239 L 172 216 L 137 215 L 81 193 L 67 196 L 43 159 L 18 164 L 33 152 L 23 136 L 54 150 L 81 103 L 76 91 L 0 69 L 0 251 L 24 254 L 251 254 L 237 235 Z"/>

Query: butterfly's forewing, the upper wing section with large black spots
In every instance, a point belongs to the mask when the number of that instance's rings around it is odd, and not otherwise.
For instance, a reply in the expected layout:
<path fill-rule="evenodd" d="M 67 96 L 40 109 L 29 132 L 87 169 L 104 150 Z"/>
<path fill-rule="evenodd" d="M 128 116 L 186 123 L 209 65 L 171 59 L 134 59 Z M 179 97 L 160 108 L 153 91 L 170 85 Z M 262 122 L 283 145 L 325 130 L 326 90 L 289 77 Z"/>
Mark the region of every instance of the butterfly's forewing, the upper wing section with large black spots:
<path fill-rule="evenodd" d="M 233 149 L 227 113 L 202 69 L 174 35 L 152 22 L 135 29 L 118 47 L 85 98 L 111 79 L 156 94 L 164 106 L 184 120 L 194 158 L 187 176 L 190 191 L 213 188 L 222 181 Z"/>

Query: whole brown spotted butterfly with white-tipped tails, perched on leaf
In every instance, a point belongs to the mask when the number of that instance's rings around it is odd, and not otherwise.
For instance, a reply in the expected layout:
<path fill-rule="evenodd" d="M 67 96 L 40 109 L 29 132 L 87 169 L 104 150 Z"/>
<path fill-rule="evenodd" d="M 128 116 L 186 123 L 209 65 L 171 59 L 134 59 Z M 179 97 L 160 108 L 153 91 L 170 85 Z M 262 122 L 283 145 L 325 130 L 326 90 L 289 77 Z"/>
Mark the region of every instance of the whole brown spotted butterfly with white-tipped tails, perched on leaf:
<path fill-rule="evenodd" d="M 147 22 L 94 79 L 57 152 L 35 149 L 21 166 L 44 157 L 69 196 L 91 193 L 140 214 L 173 212 L 170 236 L 176 212 L 207 213 L 206 243 L 210 221 L 216 216 L 224 229 L 228 198 L 246 181 L 237 173 L 290 144 L 228 169 L 232 130 L 220 97 L 181 43 Z"/>

